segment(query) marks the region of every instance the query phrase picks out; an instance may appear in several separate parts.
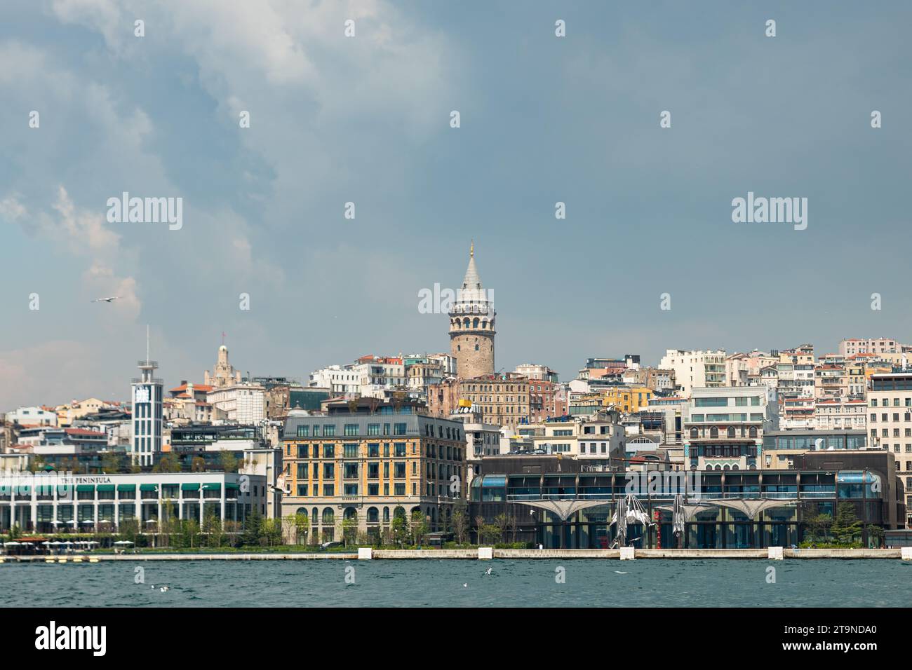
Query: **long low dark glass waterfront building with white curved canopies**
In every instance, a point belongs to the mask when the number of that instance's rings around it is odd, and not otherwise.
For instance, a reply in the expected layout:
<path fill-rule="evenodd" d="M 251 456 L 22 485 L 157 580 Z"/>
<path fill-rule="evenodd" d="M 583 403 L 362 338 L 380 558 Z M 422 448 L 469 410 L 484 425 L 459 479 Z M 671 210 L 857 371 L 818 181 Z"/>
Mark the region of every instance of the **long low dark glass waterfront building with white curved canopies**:
<path fill-rule="evenodd" d="M 896 519 L 904 518 L 897 516 L 902 484 L 891 477 L 888 464 L 877 463 L 878 469 L 653 471 L 649 476 L 656 479 L 650 482 L 645 473 L 567 471 L 575 464 L 566 459 L 541 460 L 536 466 L 527 458 L 517 467 L 509 467 L 509 459 L 496 460 L 507 467 L 499 472 L 492 463 L 472 480 L 475 537 L 476 517 L 497 525 L 504 515 L 503 541 L 540 543 L 546 549 L 610 548 L 617 538 L 612 516 L 623 509 L 627 493 L 637 497 L 649 519 L 658 521 L 627 527 L 627 539 L 641 549 L 679 546 L 672 531 L 676 493 L 687 496 L 684 548 L 797 545 L 809 520 L 820 514 L 835 517 L 841 502 L 854 505 L 863 527 L 896 529 Z M 555 464 L 564 471 L 554 471 Z M 869 536 L 865 528 L 862 541 Z"/>

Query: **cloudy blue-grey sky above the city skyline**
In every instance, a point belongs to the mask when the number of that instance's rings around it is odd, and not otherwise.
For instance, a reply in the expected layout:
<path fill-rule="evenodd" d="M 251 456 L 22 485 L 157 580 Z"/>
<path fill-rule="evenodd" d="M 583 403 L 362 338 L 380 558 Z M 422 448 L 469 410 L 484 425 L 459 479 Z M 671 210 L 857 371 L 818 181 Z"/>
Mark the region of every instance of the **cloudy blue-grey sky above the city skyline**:
<path fill-rule="evenodd" d="M 4 3 L 0 409 L 128 397 L 146 324 L 169 385 L 223 332 L 254 375 L 446 351 L 418 294 L 472 239 L 506 369 L 912 341 L 912 5 L 757 5 Z M 183 227 L 109 223 L 123 191 Z M 748 191 L 807 230 L 732 222 Z"/>

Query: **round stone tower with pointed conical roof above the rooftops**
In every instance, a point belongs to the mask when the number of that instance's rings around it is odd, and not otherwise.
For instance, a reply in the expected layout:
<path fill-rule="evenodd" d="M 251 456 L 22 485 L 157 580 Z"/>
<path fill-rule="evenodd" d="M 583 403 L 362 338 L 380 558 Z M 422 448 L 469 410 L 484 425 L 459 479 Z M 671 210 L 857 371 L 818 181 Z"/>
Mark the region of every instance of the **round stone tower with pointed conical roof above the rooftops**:
<path fill-rule="evenodd" d="M 485 291 L 475 267 L 475 244 L 469 250 L 462 287 L 450 310 L 450 353 L 456 374 L 463 379 L 494 372 L 494 317 L 492 292 Z"/>

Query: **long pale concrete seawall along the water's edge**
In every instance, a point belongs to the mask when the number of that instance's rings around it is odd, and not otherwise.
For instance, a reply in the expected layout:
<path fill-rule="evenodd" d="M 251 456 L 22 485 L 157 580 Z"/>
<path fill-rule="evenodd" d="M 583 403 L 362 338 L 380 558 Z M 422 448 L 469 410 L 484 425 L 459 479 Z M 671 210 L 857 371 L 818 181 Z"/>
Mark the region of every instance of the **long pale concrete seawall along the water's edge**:
<path fill-rule="evenodd" d="M 777 560 L 781 552 L 782 559 L 903 559 L 903 552 L 899 549 L 781 549 L 772 547 L 768 549 L 637 549 L 630 557 L 630 551 L 625 552 L 625 558 L 638 559 L 753 559 Z M 339 553 L 128 553 L 128 554 L 85 554 L 73 556 L 0 556 L 0 563 L 15 562 L 46 562 L 61 563 L 95 563 L 110 561 L 320 561 L 342 560 L 357 561 L 415 561 L 422 559 L 431 560 L 526 560 L 526 559 L 621 559 L 621 551 L 617 549 L 401 549 L 401 550 L 371 550 L 360 549 L 356 552 Z M 912 561 L 912 551 L 907 549 L 904 560 Z"/>

